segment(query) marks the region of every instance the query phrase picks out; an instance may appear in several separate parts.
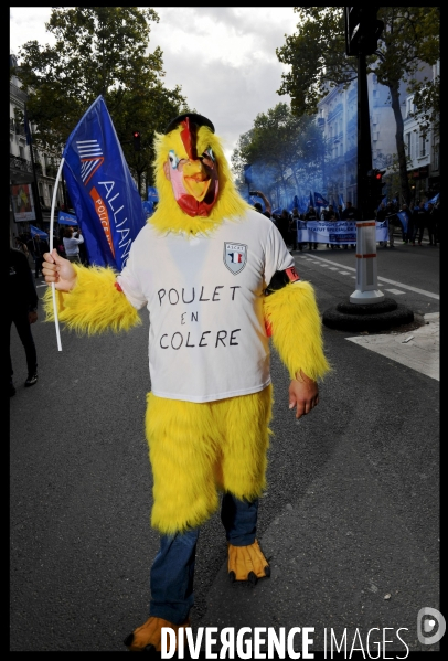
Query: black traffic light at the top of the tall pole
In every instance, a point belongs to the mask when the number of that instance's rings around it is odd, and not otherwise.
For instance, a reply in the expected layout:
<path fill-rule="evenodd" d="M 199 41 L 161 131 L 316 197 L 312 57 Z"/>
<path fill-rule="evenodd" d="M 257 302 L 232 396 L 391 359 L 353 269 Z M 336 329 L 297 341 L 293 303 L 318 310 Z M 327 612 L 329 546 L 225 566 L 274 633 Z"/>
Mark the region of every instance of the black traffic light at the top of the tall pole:
<path fill-rule="evenodd" d="M 380 7 L 344 7 L 345 53 L 348 55 L 373 55 L 384 30 L 376 18 Z"/>

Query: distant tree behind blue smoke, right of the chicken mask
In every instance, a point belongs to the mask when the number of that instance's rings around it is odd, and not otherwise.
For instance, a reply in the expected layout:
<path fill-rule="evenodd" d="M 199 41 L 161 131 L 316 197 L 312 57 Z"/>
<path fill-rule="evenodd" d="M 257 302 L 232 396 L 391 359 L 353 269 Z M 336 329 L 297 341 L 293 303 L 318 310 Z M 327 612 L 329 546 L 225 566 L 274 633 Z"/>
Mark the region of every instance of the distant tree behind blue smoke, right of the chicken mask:
<path fill-rule="evenodd" d="M 309 191 L 322 181 L 326 143 L 312 117 L 296 117 L 288 104 L 279 103 L 260 113 L 254 127 L 239 137 L 232 164 L 239 185 L 244 166 L 252 166 L 254 188 L 282 199 Z"/>

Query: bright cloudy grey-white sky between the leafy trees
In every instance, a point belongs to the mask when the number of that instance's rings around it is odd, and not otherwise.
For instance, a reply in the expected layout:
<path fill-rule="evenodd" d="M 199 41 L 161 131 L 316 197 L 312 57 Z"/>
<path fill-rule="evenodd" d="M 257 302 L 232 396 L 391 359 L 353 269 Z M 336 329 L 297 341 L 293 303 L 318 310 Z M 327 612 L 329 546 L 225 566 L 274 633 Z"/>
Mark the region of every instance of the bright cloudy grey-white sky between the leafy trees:
<path fill-rule="evenodd" d="M 166 86 L 180 85 L 190 107 L 209 117 L 227 158 L 258 113 L 289 97 L 276 90 L 281 65 L 276 47 L 296 31 L 292 7 L 154 7 L 150 49 L 163 52 Z M 10 52 L 30 40 L 52 43 L 50 7 L 10 8 Z"/>

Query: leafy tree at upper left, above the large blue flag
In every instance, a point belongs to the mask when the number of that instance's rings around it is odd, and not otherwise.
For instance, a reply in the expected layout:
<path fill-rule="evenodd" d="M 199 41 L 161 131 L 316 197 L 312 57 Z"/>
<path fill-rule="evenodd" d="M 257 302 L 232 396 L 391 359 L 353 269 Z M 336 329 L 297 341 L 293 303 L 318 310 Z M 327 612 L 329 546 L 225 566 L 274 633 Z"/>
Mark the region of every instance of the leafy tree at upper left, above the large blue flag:
<path fill-rule="evenodd" d="M 162 53 L 148 52 L 153 9 L 137 7 L 53 8 L 45 28 L 54 46 L 26 42 L 17 75 L 29 94 L 34 143 L 61 154 L 70 134 L 103 95 L 138 188 L 150 177 L 152 138 L 185 106 L 180 87 L 162 84 Z M 142 136 L 132 149 L 132 131 Z M 148 181 L 149 182 L 149 181 Z"/>

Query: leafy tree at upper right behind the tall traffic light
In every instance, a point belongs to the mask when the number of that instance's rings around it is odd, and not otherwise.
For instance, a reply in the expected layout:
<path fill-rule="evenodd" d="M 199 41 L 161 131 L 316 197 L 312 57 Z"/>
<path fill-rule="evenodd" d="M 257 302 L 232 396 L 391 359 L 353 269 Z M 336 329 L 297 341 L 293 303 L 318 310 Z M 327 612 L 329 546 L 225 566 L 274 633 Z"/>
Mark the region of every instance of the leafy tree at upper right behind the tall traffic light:
<path fill-rule="evenodd" d="M 298 32 L 287 36 L 285 45 L 276 51 L 280 62 L 291 65 L 291 70 L 282 74 L 278 94 L 290 95 L 295 114 L 314 114 L 318 102 L 331 87 L 346 87 L 356 78 L 356 58 L 345 55 L 342 7 L 294 9 L 299 14 Z M 427 81 L 419 79 L 418 74 L 425 64 L 434 65 L 440 56 L 439 8 L 381 7 L 378 19 L 384 22 L 384 30 L 378 50 L 367 57 L 367 73 L 374 72 L 378 83 L 390 90 L 396 124 L 401 193 L 403 200 L 409 202 L 399 85 L 406 83 L 417 98 L 423 95 L 427 104 L 433 103 L 430 94 L 425 93 L 429 89 Z"/>

